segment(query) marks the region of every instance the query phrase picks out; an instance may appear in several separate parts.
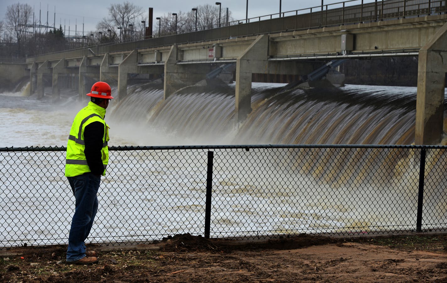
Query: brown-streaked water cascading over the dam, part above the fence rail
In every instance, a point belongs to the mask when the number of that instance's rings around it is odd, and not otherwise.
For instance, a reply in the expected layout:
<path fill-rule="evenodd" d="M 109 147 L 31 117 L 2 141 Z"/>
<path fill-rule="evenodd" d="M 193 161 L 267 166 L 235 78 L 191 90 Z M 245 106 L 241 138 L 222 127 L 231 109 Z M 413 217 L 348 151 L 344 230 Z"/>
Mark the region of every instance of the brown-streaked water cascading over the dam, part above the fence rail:
<path fill-rule="evenodd" d="M 144 125 L 168 144 L 414 142 L 414 87 L 347 85 L 281 92 L 282 86 L 253 83 L 253 111 L 240 125 L 235 122 L 234 84 L 188 87 L 166 101 L 160 85 L 137 84 L 109 117 L 118 124 Z"/>

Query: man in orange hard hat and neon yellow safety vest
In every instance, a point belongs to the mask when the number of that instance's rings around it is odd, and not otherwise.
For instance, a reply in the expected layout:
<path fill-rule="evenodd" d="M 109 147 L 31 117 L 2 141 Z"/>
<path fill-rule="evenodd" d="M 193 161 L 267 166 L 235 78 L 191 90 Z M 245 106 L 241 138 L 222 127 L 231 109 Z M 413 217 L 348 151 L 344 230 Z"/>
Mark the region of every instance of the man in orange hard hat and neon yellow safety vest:
<path fill-rule="evenodd" d="M 81 109 L 72 124 L 67 144 L 65 176 L 76 199 L 70 234 L 68 236 L 67 263 L 93 264 L 97 253 L 85 247 L 98 210 L 97 192 L 101 175 L 109 161 L 108 126 L 104 121 L 109 106 L 110 85 L 98 81 L 93 84 L 89 104 Z"/>

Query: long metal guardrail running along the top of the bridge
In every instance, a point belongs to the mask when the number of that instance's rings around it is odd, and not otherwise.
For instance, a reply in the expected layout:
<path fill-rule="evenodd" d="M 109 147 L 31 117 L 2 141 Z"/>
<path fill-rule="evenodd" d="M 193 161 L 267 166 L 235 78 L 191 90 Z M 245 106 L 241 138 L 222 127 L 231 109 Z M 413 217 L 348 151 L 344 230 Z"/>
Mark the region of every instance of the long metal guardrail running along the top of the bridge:
<path fill-rule="evenodd" d="M 361 3 L 348 6 L 348 4 Z M 350 25 L 375 21 L 395 20 L 409 17 L 425 17 L 447 13 L 445 0 L 382 0 L 363 4 L 361 0 L 343 1 L 324 6 L 315 6 L 283 13 L 232 21 L 218 27 L 201 27 L 203 30 L 186 30 L 178 34 L 160 34 L 154 38 L 128 42 L 108 42 L 85 46 L 71 51 L 61 51 L 30 57 L 27 62 L 56 58 L 70 58 L 140 48 L 172 46 L 186 42 L 202 42 L 225 38 L 237 38 L 258 34 L 280 33 L 292 30 L 307 30 L 325 26 Z M 281 16 L 281 17 L 279 17 Z M 245 21 L 245 23 L 244 23 Z M 63 55 L 61 55 L 63 53 Z"/>

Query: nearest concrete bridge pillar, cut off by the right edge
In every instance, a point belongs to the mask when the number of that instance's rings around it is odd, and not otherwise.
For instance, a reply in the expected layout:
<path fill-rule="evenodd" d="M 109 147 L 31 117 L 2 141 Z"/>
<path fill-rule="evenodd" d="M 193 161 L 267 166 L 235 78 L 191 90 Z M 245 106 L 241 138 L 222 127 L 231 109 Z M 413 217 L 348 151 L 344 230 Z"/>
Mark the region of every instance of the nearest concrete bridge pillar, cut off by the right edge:
<path fill-rule="evenodd" d="M 443 138 L 447 72 L 447 24 L 419 51 L 415 144 L 439 144 Z"/>

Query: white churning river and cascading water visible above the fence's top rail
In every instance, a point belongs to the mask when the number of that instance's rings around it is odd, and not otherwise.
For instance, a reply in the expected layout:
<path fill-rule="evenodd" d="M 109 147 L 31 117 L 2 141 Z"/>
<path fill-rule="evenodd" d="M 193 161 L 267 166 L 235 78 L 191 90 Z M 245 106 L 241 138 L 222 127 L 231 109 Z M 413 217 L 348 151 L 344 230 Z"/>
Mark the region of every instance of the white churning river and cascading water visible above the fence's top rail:
<path fill-rule="evenodd" d="M 295 90 L 253 84 L 253 112 L 235 126 L 234 84 L 189 88 L 163 100 L 160 85 L 129 87 L 111 101 L 110 145 L 411 144 L 416 88 L 347 85 L 340 90 Z M 65 146 L 66 129 L 87 102 L 63 90 L 62 102 L 22 93 L 0 94 L 0 147 Z"/>

